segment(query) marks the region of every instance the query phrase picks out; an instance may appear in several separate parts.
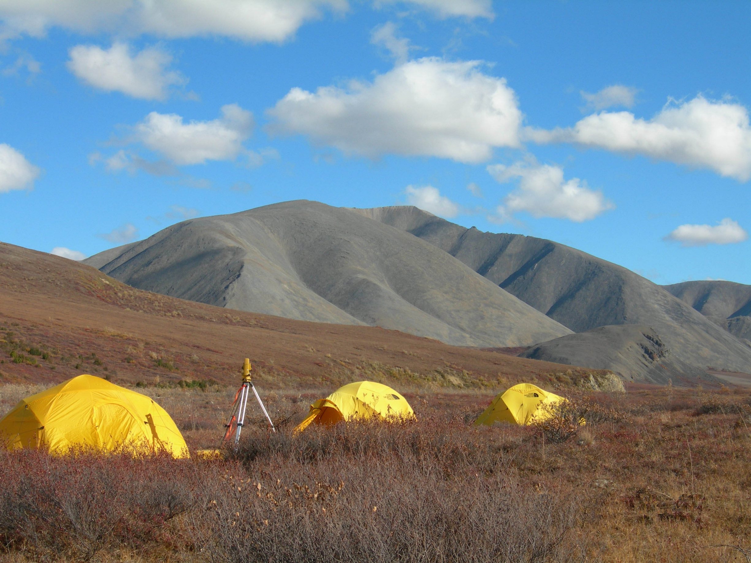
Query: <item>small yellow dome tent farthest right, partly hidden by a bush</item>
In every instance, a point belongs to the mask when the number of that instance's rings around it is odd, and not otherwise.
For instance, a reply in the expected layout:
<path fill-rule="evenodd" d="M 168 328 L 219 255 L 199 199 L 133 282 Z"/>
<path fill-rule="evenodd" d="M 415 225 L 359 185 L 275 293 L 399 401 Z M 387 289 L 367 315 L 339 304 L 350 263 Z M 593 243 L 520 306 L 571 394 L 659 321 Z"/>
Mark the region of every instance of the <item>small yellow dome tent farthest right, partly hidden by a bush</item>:
<path fill-rule="evenodd" d="M 536 385 L 520 383 L 510 387 L 505 393 L 498 393 L 488 408 L 475 420 L 475 426 L 490 426 L 496 420 L 514 424 L 530 424 L 550 417 L 550 411 L 543 405 L 555 405 L 566 401 L 563 397 L 541 390 Z"/>

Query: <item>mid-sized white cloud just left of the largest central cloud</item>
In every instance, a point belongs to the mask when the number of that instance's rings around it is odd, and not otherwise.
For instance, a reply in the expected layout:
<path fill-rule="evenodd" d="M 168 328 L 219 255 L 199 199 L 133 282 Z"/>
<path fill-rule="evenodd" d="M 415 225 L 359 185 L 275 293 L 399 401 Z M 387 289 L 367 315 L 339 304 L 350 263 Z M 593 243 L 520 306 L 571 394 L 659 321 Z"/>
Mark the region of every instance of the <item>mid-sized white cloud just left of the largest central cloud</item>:
<path fill-rule="evenodd" d="M 237 158 L 252 128 L 253 114 L 229 104 L 222 106 L 219 119 L 187 124 L 175 113 L 149 113 L 135 125 L 134 139 L 174 164 L 202 164 Z"/>

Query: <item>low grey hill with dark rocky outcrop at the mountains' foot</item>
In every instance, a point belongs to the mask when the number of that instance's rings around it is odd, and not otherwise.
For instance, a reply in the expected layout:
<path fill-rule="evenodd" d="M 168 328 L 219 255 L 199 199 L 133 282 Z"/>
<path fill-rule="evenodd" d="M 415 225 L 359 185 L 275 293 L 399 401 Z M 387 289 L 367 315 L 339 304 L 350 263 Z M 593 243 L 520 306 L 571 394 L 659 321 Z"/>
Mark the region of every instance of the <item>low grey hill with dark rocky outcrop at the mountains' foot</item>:
<path fill-rule="evenodd" d="M 543 342 L 520 357 L 566 363 L 593 369 L 610 369 L 626 380 L 667 384 L 704 379 L 718 381 L 691 366 L 671 351 L 651 327 L 610 325 Z"/>

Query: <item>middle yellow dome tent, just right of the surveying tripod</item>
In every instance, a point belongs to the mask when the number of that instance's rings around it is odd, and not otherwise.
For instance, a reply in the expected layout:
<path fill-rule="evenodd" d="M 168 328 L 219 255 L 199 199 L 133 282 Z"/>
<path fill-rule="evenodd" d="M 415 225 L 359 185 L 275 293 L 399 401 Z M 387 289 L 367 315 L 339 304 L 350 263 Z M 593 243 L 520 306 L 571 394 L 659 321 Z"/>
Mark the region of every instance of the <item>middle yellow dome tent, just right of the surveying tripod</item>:
<path fill-rule="evenodd" d="M 397 391 L 373 381 L 356 381 L 339 387 L 326 399 L 310 405 L 310 414 L 295 428 L 306 429 L 310 423 L 334 424 L 342 420 L 378 418 L 380 420 L 414 419 L 409 402 Z"/>

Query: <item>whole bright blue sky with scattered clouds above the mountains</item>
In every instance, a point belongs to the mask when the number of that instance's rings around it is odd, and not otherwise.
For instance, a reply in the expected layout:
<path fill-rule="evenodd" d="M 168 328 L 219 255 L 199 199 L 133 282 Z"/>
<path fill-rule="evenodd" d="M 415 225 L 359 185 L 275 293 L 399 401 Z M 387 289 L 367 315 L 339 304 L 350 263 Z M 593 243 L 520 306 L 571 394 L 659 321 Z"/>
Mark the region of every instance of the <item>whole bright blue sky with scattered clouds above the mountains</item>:
<path fill-rule="evenodd" d="M 0 2 L 0 240 L 412 203 L 751 284 L 748 2 Z"/>

